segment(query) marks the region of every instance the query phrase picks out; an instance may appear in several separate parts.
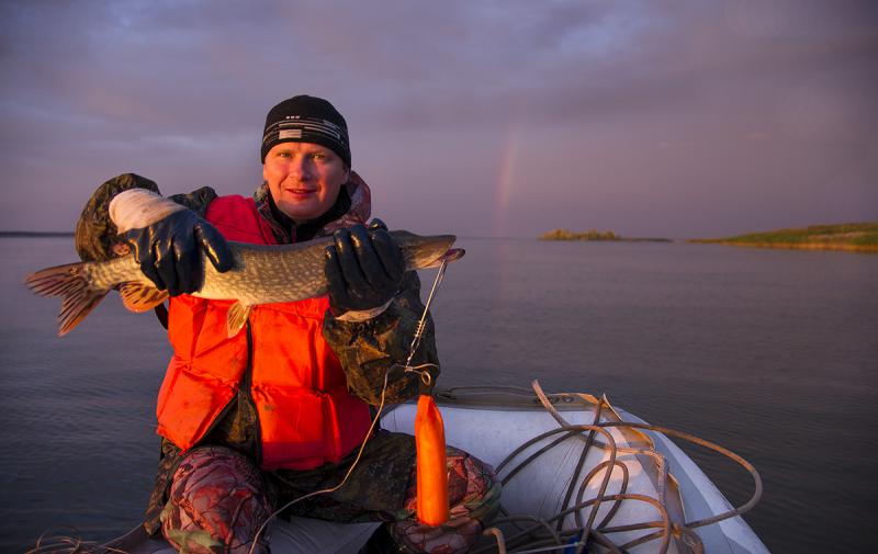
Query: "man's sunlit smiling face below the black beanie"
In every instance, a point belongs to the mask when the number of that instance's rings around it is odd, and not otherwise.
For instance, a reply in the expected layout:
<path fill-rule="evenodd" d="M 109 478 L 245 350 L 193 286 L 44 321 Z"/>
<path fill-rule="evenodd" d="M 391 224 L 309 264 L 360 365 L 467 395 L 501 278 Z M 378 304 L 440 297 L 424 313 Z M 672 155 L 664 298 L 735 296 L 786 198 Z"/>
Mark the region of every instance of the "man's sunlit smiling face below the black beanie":
<path fill-rule="evenodd" d="M 316 219 L 333 207 L 350 171 L 329 148 L 281 143 L 268 151 L 262 177 L 280 211 L 302 223 Z"/>

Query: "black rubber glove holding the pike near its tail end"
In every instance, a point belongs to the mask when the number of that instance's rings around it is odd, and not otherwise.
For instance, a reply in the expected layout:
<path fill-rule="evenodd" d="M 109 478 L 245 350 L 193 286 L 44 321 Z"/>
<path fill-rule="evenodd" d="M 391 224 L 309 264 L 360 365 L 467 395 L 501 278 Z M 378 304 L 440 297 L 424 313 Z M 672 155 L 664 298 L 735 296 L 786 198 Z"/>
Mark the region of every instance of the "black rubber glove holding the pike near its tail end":
<path fill-rule="evenodd" d="M 190 210 L 181 210 L 142 229 L 125 233 L 140 271 L 171 296 L 201 289 L 202 251 L 216 271 L 232 269 L 235 259 L 216 228 Z"/>

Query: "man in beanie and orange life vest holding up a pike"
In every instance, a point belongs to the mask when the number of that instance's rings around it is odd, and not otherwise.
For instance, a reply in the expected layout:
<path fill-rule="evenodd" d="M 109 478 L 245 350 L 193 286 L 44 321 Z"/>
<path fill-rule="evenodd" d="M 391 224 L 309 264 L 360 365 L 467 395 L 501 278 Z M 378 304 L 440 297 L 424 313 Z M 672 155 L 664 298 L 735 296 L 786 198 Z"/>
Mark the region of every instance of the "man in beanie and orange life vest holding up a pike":
<path fill-rule="evenodd" d="M 156 410 L 162 445 L 146 530 L 188 552 L 247 552 L 271 512 L 334 488 L 359 454 L 344 486 L 283 515 L 386 521 L 399 552 L 465 552 L 498 506 L 491 468 L 449 449 L 452 519 L 426 528 L 415 518 L 412 437 L 367 439 L 382 392 L 395 403 L 419 391 L 416 374 L 392 368 L 405 363 L 424 305 L 386 227 L 365 225 L 370 191 L 351 170 L 345 118 L 323 99 L 285 100 L 268 113 L 261 159 L 264 182 L 252 199 L 207 188 L 165 199 L 154 182 L 124 174 L 98 189 L 77 226 L 83 260 L 133 250 L 171 294 L 173 358 Z M 201 285 L 202 252 L 217 270 L 230 268 L 226 239 L 325 235 L 334 237 L 329 294 L 257 306 L 235 337 L 225 327 L 229 302 L 188 294 Z M 438 375 L 431 324 L 413 363 Z M 266 544 L 260 538 L 257 551 Z"/>

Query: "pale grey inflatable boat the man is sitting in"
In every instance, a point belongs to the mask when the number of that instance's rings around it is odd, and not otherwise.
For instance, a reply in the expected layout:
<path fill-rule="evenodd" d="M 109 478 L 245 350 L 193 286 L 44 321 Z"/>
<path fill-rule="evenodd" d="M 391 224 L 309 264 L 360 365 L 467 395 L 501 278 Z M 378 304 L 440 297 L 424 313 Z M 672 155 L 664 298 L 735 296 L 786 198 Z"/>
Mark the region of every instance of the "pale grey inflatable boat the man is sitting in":
<path fill-rule="evenodd" d="M 507 387 L 436 391 L 446 439 L 493 465 L 503 480 L 502 513 L 472 553 L 765 554 L 741 513 L 761 495 L 758 473 L 722 446 L 648 425 L 606 397 Z M 416 406 L 386 410 L 381 426 L 412 432 Z M 733 508 L 671 437 L 732 457 L 754 493 Z M 362 551 L 376 523 L 294 518 L 271 525 L 274 554 Z M 106 552 L 171 554 L 142 529 Z M 115 549 L 115 550 L 109 550 Z"/>

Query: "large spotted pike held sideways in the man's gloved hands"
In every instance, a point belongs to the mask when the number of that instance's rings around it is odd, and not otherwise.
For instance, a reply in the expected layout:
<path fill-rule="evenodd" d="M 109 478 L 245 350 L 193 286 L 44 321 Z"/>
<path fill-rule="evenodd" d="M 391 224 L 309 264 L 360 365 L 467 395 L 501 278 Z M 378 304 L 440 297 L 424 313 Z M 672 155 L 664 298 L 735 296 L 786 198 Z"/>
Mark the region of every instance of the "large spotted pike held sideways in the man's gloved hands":
<path fill-rule="evenodd" d="M 439 267 L 454 261 L 463 250 L 451 249 L 453 235 L 421 237 L 404 230 L 391 231 L 403 251 L 406 270 Z M 258 304 L 295 302 L 327 292 L 324 249 L 333 241 L 322 237 L 285 246 L 248 245 L 229 241 L 235 258 L 233 268 L 219 273 L 202 257 L 204 283 L 193 296 L 237 301 L 228 310 L 228 336 L 240 331 L 250 309 Z M 112 289 L 132 312 L 146 312 L 161 304 L 167 291 L 156 289 L 140 271 L 133 255 L 105 262 L 67 263 L 40 270 L 24 283 L 43 296 L 61 296 L 58 335 L 79 325 Z"/>

